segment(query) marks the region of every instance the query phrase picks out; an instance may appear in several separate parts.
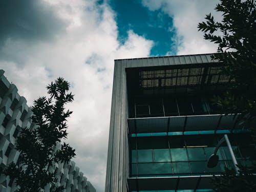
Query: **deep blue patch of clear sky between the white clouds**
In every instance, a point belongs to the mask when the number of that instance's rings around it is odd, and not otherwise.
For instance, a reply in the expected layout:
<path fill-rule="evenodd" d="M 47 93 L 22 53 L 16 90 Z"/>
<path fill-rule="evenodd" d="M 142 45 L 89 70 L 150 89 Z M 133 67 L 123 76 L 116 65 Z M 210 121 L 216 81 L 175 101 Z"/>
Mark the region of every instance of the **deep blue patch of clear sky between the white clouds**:
<path fill-rule="evenodd" d="M 163 56 L 167 52 L 177 54 L 177 45 L 172 40 L 176 37 L 172 17 L 159 10 L 150 11 L 138 0 L 111 0 L 110 6 L 116 12 L 118 40 L 122 44 L 127 39 L 127 31 L 133 30 L 154 41 L 151 56 Z"/>

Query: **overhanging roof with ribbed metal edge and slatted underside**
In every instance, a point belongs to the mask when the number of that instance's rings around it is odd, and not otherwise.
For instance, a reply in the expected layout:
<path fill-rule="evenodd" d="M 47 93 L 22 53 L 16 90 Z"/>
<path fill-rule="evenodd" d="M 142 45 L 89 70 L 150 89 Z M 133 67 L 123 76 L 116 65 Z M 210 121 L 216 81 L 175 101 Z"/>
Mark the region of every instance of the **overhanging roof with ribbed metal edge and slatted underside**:
<path fill-rule="evenodd" d="M 189 93 L 225 89 L 232 81 L 210 54 L 116 60 L 125 63 L 130 93 Z M 131 67 L 129 67 L 131 66 Z M 131 88 L 132 87 L 132 88 Z"/>

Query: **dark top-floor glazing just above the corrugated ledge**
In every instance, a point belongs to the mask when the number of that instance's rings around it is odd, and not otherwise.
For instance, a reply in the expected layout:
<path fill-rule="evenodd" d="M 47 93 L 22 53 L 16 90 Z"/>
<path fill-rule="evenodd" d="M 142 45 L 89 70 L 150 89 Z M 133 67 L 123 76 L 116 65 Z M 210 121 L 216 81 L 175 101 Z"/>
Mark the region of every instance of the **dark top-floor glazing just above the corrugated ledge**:
<path fill-rule="evenodd" d="M 218 114 L 221 109 L 210 97 L 137 98 L 130 105 L 130 118 Z"/>

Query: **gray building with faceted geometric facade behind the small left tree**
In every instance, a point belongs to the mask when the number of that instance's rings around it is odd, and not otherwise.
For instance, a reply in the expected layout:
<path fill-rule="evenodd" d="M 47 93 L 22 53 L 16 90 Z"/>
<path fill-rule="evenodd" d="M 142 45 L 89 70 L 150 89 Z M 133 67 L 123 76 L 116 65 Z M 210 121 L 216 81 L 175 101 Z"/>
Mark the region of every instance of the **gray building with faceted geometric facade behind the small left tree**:
<path fill-rule="evenodd" d="M 26 104 L 27 100 L 19 96 L 18 89 L 4 76 L 0 70 L 0 191 L 13 192 L 16 186 L 9 177 L 5 177 L 2 170 L 11 162 L 17 163 L 19 152 L 14 145 L 20 129 L 34 126 L 31 122 L 31 110 Z M 60 147 L 60 146 L 57 146 Z M 66 192 L 95 192 L 93 185 L 83 176 L 74 162 L 58 163 L 50 167 L 57 172 L 58 185 L 66 187 Z M 45 187 L 45 192 L 50 186 Z"/>

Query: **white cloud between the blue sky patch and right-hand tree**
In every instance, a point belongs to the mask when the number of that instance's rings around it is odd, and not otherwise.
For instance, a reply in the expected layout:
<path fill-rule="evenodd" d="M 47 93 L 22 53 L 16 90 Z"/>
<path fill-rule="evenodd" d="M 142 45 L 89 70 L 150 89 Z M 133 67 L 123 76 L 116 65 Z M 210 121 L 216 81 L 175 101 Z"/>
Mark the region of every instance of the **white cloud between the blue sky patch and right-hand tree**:
<path fill-rule="evenodd" d="M 160 9 L 173 17 L 174 27 L 177 30 L 178 54 L 186 55 L 217 51 L 215 44 L 203 39 L 203 33 L 198 32 L 197 25 L 204 20 L 205 14 L 210 12 L 217 20 L 220 19 L 220 14 L 214 10 L 218 2 L 219 0 L 142 0 L 142 5 L 151 11 Z"/>

